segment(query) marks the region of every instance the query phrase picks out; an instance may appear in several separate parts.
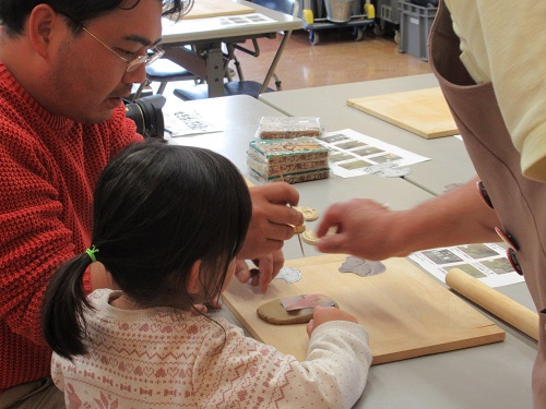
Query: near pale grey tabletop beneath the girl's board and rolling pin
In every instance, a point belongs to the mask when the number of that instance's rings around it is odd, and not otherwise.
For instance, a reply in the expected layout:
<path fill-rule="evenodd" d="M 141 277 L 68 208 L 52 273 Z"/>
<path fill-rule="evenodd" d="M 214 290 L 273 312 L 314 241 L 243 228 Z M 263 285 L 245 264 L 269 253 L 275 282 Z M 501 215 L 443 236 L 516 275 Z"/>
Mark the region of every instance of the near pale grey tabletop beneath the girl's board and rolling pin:
<path fill-rule="evenodd" d="M 245 151 L 253 139 L 260 118 L 282 116 L 248 96 L 187 103 L 173 97 L 168 104 L 185 104 L 222 129 L 222 132 L 214 134 L 177 137 L 170 143 L 207 147 L 222 153 L 247 177 Z M 301 204 L 314 206 L 319 210 L 333 202 L 356 195 L 388 202 L 396 209 L 412 207 L 431 197 L 430 193 L 403 179 L 373 176 L 352 179 L 332 177 L 294 187 L 300 193 Z M 307 255 L 317 254 L 307 244 L 305 250 Z M 287 258 L 301 256 L 296 238 L 286 242 L 285 255 Z M 505 287 L 500 291 L 533 309 L 524 285 Z M 221 314 L 237 324 L 229 311 L 222 311 Z M 491 320 L 507 332 L 503 342 L 375 365 L 355 408 L 531 408 L 531 370 L 537 350 L 536 342 L 498 320 Z"/>

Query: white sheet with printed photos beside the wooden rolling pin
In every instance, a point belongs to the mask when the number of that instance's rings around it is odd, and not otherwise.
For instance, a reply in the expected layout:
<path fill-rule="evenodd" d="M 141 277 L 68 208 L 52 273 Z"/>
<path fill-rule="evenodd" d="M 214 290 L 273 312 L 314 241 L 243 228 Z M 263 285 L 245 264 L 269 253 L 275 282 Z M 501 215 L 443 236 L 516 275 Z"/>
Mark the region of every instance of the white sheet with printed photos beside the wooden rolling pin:
<path fill-rule="evenodd" d="M 416 252 L 410 258 L 446 282 L 451 268 L 460 268 L 489 287 L 523 282 L 506 255 L 505 243 L 478 243 Z"/>

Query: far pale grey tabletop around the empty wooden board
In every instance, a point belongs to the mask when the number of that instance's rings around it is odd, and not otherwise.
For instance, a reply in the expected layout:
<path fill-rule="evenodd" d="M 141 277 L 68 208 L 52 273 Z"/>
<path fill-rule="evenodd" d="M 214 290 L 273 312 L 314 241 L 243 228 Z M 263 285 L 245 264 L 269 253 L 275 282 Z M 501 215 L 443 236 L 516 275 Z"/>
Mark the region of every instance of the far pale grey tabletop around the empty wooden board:
<path fill-rule="evenodd" d="M 431 158 L 412 165 L 405 180 L 435 195 L 475 176 L 464 144 L 454 136 L 426 140 L 371 115 L 347 106 L 346 100 L 438 86 L 432 74 L 389 80 L 282 91 L 260 95 L 260 100 L 293 117 L 319 117 L 325 131 L 353 129 L 357 132 Z"/>

